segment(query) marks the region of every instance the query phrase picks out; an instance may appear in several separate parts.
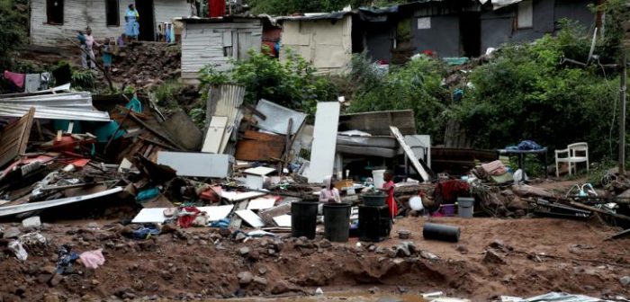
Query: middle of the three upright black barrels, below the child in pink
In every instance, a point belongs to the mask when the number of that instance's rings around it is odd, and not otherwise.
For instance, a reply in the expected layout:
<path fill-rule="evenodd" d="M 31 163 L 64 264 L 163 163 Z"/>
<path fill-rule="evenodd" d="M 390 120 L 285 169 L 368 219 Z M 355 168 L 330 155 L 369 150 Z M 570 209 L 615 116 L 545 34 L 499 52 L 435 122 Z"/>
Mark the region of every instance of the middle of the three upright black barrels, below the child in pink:
<path fill-rule="evenodd" d="M 350 205 L 327 203 L 324 205 L 324 237 L 332 242 L 347 242 L 350 235 Z"/>

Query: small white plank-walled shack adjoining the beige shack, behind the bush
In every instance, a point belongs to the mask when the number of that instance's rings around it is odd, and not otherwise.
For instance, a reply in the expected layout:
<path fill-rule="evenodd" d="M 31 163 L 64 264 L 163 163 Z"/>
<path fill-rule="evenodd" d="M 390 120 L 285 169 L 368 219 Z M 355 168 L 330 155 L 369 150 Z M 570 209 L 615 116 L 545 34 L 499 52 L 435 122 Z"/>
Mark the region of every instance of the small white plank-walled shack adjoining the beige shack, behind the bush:
<path fill-rule="evenodd" d="M 206 65 L 229 68 L 229 59 L 247 58 L 249 49 L 259 50 L 264 29 L 275 25 L 266 16 L 184 19 L 182 35 L 182 80 L 197 82 Z"/>

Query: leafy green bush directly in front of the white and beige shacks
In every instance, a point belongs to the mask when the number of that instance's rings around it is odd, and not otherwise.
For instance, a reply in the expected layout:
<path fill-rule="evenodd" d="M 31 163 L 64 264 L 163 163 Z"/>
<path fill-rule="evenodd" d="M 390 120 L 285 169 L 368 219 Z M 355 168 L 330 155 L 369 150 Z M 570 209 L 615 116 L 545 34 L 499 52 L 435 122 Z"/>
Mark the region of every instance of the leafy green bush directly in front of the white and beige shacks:
<path fill-rule="evenodd" d="M 302 57 L 289 52 L 280 61 L 255 50 L 249 58 L 232 61 L 229 71 L 218 71 L 207 66 L 200 71 L 202 99 L 207 98 L 211 84 L 240 84 L 245 86 L 245 102 L 255 104 L 260 99 L 276 102 L 288 108 L 311 113 L 318 101 L 336 98 L 336 89 L 329 78 L 316 76 L 317 69 Z"/>

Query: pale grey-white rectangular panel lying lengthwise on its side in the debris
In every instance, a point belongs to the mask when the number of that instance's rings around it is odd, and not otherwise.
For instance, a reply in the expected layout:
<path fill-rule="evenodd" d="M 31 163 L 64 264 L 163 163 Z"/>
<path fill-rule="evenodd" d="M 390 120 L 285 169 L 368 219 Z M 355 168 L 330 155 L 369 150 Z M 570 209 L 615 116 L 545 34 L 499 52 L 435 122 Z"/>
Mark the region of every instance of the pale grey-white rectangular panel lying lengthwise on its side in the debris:
<path fill-rule="evenodd" d="M 233 162 L 231 155 L 166 151 L 157 153 L 157 164 L 170 166 L 179 176 L 228 177 Z"/>

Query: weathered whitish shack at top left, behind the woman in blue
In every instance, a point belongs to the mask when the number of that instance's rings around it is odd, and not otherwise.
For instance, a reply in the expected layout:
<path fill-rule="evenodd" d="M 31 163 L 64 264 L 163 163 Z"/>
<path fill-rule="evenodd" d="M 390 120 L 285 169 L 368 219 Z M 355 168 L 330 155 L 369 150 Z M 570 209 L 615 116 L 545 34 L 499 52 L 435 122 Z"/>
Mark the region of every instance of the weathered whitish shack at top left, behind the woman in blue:
<path fill-rule="evenodd" d="M 191 4 L 186 0 L 32 0 L 31 44 L 71 48 L 78 31 L 92 29 L 94 38 L 118 37 L 124 32 L 125 12 L 136 4 L 140 18 L 139 40 L 155 40 L 157 23 L 188 17 Z"/>

